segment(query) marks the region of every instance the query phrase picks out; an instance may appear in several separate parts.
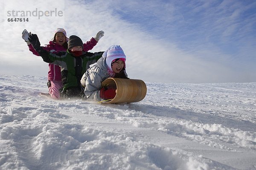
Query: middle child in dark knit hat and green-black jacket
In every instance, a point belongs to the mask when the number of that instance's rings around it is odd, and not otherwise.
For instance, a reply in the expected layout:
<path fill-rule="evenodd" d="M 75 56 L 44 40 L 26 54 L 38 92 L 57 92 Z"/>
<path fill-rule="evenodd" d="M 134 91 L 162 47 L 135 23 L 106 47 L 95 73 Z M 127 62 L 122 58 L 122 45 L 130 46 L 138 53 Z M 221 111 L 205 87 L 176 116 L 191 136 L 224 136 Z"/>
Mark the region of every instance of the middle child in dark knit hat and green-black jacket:
<path fill-rule="evenodd" d="M 29 35 L 28 40 L 31 42 L 35 51 L 44 59 L 44 62 L 61 66 L 63 84 L 63 87 L 60 89 L 61 98 L 81 98 L 81 77 L 89 68 L 89 65 L 97 62 L 97 60 L 102 57 L 104 51 L 97 53 L 82 51 L 83 42 L 75 35 L 69 37 L 68 50 L 56 54 L 44 50 L 44 48 L 40 46 L 36 34 Z"/>

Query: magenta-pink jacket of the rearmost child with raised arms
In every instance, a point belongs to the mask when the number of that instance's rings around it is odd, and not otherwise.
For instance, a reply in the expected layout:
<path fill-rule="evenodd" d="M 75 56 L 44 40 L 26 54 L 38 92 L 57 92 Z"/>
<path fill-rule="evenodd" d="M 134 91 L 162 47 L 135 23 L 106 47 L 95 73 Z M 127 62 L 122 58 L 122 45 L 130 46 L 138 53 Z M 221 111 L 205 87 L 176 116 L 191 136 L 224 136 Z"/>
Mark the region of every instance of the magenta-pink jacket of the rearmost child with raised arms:
<path fill-rule="evenodd" d="M 97 44 L 97 41 L 92 37 L 90 41 L 87 41 L 83 45 L 83 51 L 89 51 L 93 49 L 93 47 Z M 29 46 L 29 51 L 31 51 L 34 55 L 40 56 L 37 51 L 33 48 L 31 44 Z M 67 51 L 62 45 L 59 45 L 55 42 L 50 41 L 49 44 L 43 47 L 44 50 L 50 51 L 52 53 L 58 53 L 60 51 Z M 49 71 L 48 71 L 48 80 L 56 80 L 61 81 L 61 68 L 58 65 L 50 64 L 49 63 Z"/>

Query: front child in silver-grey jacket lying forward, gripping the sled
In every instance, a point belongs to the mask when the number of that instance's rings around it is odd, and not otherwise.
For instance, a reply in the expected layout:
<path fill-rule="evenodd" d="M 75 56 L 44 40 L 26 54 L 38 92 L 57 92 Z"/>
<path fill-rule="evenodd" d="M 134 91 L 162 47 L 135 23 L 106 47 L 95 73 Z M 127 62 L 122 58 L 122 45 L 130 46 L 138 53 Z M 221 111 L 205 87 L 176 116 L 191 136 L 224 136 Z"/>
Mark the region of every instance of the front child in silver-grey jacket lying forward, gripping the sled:
<path fill-rule="evenodd" d="M 113 88 L 101 88 L 102 82 L 109 77 L 126 78 L 125 54 L 119 45 L 112 45 L 104 52 L 97 65 L 89 68 L 81 79 L 84 87 L 84 99 L 102 101 L 103 99 L 113 99 L 116 90 Z"/>

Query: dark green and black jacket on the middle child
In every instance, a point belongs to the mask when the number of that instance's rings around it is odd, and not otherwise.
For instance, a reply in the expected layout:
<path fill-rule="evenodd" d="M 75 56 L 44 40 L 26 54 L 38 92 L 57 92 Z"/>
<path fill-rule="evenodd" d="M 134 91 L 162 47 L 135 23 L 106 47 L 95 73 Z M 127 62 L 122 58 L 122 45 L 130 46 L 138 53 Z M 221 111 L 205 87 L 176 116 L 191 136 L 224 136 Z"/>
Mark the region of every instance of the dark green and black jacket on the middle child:
<path fill-rule="evenodd" d="M 81 77 L 86 70 L 91 64 L 97 62 L 104 53 L 104 51 L 96 53 L 82 52 L 82 55 L 78 57 L 74 56 L 68 50 L 55 54 L 45 50 L 40 52 L 40 56 L 44 59 L 44 62 L 59 65 L 61 67 L 61 80 L 64 91 L 70 87 L 78 87 L 80 85 Z"/>

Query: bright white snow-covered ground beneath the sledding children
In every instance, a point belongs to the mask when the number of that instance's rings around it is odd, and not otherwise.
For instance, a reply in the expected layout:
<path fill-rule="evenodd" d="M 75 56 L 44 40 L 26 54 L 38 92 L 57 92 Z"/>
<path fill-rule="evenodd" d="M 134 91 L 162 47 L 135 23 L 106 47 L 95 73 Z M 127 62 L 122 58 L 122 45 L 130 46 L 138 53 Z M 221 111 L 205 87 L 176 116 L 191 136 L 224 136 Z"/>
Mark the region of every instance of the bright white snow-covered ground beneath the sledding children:
<path fill-rule="evenodd" d="M 0 170 L 256 170 L 256 82 L 155 83 L 141 102 L 45 99 L 0 75 Z"/>

